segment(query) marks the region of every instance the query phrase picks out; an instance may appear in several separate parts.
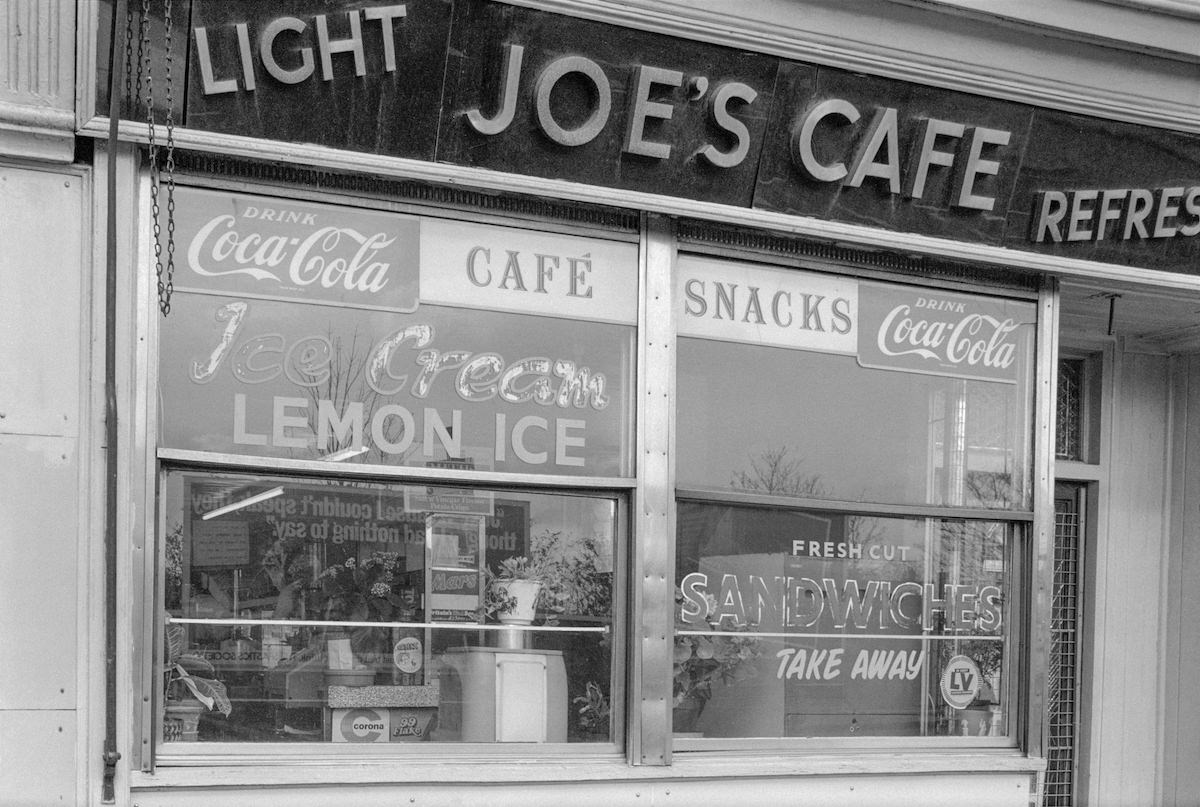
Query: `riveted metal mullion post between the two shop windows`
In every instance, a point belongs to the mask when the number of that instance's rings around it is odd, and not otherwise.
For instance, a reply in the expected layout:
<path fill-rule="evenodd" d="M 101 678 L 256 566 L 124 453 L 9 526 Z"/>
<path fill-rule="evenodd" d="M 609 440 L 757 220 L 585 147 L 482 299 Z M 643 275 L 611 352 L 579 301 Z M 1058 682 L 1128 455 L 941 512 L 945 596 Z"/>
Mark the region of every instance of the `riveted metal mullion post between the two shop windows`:
<path fill-rule="evenodd" d="M 640 250 L 637 489 L 630 588 L 630 747 L 634 765 L 671 763 L 674 582 L 674 316 L 672 223 L 647 216 Z"/>

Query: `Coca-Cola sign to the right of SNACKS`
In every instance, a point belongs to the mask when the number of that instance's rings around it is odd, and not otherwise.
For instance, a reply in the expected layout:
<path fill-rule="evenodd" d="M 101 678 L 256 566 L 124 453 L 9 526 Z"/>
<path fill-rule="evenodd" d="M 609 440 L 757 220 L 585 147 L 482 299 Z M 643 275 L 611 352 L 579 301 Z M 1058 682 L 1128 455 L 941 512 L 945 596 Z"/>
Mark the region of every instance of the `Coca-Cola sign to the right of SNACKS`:
<path fill-rule="evenodd" d="M 1015 383 L 1027 369 L 1032 306 L 938 289 L 863 283 L 864 367 Z"/>

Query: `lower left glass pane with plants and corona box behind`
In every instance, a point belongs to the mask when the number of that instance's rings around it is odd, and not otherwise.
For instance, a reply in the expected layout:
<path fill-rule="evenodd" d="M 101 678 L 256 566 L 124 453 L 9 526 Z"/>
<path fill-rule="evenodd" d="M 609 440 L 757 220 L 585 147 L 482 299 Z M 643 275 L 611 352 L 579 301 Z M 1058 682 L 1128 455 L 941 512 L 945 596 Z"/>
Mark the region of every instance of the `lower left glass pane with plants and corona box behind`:
<path fill-rule="evenodd" d="M 167 740 L 614 739 L 614 498 L 172 471 L 161 501 Z"/>

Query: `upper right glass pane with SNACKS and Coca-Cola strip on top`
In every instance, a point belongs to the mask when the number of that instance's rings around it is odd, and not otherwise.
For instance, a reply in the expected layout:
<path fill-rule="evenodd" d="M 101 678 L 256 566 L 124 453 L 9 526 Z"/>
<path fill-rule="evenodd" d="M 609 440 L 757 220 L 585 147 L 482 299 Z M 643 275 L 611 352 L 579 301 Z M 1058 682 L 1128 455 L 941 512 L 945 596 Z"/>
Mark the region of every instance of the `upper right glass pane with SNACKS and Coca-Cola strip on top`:
<path fill-rule="evenodd" d="M 680 264 L 680 488 L 1032 507 L 1032 304 Z"/>

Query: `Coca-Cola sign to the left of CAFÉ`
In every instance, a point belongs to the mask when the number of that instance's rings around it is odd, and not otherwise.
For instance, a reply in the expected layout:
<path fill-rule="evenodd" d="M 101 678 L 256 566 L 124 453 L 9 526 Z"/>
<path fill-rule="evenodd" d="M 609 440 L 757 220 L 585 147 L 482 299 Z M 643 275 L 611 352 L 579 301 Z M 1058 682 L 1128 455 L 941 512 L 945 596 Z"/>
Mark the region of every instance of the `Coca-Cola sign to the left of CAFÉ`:
<path fill-rule="evenodd" d="M 416 219 L 194 187 L 175 210 L 179 289 L 416 310 Z"/>

